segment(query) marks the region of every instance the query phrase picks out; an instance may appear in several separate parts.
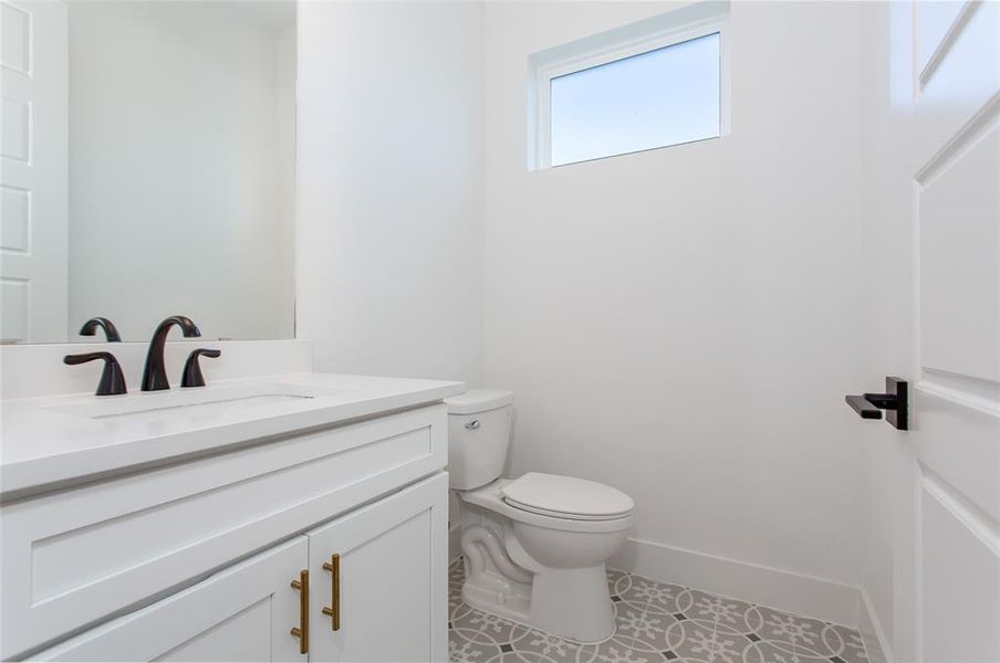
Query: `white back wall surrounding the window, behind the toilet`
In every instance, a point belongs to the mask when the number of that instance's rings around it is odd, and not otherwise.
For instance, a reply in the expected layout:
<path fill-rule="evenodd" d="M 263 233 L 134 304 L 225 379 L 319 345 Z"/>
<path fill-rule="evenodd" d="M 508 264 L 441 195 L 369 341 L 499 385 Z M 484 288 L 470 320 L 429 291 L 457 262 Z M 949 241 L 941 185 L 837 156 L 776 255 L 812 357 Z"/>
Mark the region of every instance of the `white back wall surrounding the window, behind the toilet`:
<path fill-rule="evenodd" d="M 857 585 L 858 8 L 735 3 L 730 136 L 525 169 L 528 55 L 669 8 L 486 7 L 483 382 L 517 392 L 514 474 L 619 486 L 640 539 Z"/>

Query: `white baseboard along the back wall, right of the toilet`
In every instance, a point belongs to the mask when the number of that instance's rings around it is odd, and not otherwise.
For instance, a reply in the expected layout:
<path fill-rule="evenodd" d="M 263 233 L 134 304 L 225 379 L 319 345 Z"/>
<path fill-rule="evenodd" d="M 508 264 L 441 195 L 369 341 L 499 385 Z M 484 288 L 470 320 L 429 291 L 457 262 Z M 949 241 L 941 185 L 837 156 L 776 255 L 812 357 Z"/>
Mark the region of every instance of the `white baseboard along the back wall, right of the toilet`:
<path fill-rule="evenodd" d="M 794 571 L 634 538 L 608 567 L 845 627 L 862 621 L 856 587 Z"/>

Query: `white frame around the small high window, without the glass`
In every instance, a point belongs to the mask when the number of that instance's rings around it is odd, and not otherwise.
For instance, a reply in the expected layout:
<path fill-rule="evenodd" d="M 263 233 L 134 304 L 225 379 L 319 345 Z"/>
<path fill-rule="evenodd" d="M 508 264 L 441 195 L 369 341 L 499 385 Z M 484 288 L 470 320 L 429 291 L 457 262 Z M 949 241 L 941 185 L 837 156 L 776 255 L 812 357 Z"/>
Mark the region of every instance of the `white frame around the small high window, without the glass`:
<path fill-rule="evenodd" d="M 528 169 L 560 168 L 600 159 L 665 149 L 684 143 L 650 147 L 631 152 L 597 157 L 585 161 L 552 165 L 552 80 L 618 60 L 674 46 L 694 39 L 719 35 L 719 136 L 694 140 L 715 140 L 730 133 L 729 108 L 729 2 L 698 2 L 638 23 L 587 36 L 569 44 L 535 53 L 529 57 L 529 145 Z"/>

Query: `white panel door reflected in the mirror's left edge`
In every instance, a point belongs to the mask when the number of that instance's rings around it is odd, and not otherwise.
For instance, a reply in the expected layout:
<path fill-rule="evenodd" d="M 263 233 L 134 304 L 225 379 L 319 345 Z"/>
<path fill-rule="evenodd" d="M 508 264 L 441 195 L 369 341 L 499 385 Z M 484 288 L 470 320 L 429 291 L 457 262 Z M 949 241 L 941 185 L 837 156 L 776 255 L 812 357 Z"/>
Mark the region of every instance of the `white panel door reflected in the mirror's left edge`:
<path fill-rule="evenodd" d="M 0 0 L 0 340 L 66 340 L 66 6 Z"/>

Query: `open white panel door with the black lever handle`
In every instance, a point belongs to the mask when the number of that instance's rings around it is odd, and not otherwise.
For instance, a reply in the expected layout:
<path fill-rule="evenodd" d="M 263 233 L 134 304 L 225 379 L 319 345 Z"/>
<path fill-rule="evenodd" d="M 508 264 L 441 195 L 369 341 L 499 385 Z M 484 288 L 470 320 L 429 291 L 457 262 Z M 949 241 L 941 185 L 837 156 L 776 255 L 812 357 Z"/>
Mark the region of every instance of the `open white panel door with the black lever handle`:
<path fill-rule="evenodd" d="M 899 149 L 884 162 L 886 186 L 900 186 L 887 213 L 909 217 L 897 234 L 899 251 L 912 254 L 897 292 L 913 297 L 893 320 L 914 348 L 912 430 L 897 439 L 907 466 L 894 486 L 896 657 L 996 663 L 1000 3 L 917 1 L 889 11 L 895 66 L 882 92 L 896 118 L 885 130 Z"/>

